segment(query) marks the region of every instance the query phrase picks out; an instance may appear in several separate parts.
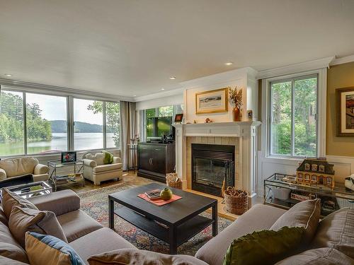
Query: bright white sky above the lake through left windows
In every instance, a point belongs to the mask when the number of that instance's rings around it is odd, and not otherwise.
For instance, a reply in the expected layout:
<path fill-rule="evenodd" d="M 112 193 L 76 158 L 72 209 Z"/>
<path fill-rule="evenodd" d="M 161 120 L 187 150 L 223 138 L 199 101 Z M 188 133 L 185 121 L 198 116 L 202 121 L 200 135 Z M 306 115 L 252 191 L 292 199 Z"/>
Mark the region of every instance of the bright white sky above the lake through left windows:
<path fill-rule="evenodd" d="M 26 93 L 26 102 L 28 104 L 37 103 L 42 110 L 42 117 L 49 121 L 67 119 L 67 98 Z M 93 100 L 74 98 L 74 121 L 103 124 L 102 114 L 93 114 L 91 110 L 87 110 L 92 102 Z"/>

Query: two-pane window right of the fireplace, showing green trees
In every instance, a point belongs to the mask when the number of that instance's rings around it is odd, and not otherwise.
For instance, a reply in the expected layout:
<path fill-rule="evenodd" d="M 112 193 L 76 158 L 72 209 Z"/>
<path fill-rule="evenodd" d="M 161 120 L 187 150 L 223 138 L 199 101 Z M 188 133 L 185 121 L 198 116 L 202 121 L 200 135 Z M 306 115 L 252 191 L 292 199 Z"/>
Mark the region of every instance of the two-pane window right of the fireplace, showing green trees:
<path fill-rule="evenodd" d="M 317 79 L 270 83 L 270 155 L 316 156 Z"/>

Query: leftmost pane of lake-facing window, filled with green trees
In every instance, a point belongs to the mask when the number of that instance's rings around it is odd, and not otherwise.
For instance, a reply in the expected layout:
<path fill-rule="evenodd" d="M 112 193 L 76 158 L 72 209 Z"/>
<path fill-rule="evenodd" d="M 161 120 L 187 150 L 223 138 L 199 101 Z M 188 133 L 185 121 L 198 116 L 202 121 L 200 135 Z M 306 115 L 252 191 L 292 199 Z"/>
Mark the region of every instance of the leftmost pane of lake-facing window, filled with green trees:
<path fill-rule="evenodd" d="M 1 90 L 0 95 L 0 155 L 22 155 L 23 93 Z"/>

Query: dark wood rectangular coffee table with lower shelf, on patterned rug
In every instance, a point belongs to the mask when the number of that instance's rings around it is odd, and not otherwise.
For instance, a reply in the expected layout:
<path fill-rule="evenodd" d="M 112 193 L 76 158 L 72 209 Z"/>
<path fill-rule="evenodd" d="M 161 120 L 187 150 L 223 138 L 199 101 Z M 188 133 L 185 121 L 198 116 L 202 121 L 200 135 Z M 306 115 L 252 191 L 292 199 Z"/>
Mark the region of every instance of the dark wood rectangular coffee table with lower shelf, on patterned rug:
<path fill-rule="evenodd" d="M 156 206 L 137 195 L 152 189 L 164 189 L 162 184 L 152 183 L 116 192 L 108 196 L 109 227 L 114 229 L 114 216 L 120 216 L 137 228 L 169 243 L 170 253 L 176 254 L 177 247 L 190 237 L 212 225 L 212 235 L 217 235 L 217 200 L 200 196 L 180 189 L 171 188 L 173 194 L 182 199 L 164 206 Z M 121 204 L 114 210 L 114 203 Z M 199 216 L 212 208 L 212 218 Z"/>

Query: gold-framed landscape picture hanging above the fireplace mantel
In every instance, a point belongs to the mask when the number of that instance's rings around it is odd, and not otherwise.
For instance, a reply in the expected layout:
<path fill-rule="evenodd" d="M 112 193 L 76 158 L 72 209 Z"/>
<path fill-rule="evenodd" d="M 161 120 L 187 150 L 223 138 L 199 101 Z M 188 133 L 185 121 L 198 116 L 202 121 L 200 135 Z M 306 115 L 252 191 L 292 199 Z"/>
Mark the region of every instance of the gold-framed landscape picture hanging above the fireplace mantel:
<path fill-rule="evenodd" d="M 229 88 L 220 88 L 195 93 L 195 114 L 227 112 Z"/>

